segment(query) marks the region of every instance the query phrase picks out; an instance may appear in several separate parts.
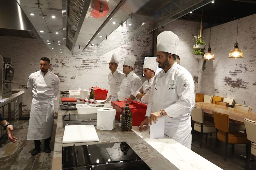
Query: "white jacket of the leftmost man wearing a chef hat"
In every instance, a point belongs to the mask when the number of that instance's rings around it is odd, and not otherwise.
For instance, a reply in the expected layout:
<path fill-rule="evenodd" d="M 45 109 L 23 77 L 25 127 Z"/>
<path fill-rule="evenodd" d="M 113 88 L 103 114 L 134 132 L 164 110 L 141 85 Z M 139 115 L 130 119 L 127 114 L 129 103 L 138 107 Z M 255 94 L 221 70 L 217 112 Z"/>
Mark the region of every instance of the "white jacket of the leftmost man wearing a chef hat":
<path fill-rule="evenodd" d="M 110 101 L 117 101 L 117 93 L 119 92 L 121 82 L 125 78 L 125 74 L 116 70 L 113 74 L 108 74 L 108 84 L 110 85 L 109 94 L 112 95 Z"/>

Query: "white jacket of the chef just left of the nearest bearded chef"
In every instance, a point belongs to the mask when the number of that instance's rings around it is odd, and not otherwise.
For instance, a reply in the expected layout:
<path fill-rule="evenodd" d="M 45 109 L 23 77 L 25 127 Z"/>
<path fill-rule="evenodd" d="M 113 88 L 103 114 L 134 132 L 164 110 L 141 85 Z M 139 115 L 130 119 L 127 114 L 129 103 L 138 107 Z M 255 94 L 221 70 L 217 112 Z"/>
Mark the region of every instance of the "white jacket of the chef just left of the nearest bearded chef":
<path fill-rule="evenodd" d="M 149 80 L 146 80 L 142 86 L 139 88 L 139 90 L 136 91 L 135 97 L 137 97 L 137 94 L 141 93 L 140 90 L 143 89 L 143 97 L 140 99 L 141 103 L 144 103 L 145 105 L 148 104 L 149 96 L 150 96 L 150 91 L 152 89 L 152 85 L 154 82 L 154 77 L 150 78 Z"/>

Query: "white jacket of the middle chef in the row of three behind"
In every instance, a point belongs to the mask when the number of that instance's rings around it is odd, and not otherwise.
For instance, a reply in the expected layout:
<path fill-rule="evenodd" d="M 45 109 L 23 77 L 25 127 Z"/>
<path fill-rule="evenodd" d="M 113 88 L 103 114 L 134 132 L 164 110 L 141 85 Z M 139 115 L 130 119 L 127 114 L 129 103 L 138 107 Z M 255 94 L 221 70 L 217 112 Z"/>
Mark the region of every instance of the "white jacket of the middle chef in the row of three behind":
<path fill-rule="evenodd" d="M 135 92 L 141 87 L 141 79 L 133 71 L 131 71 L 122 81 L 120 90 L 117 93 L 118 100 L 125 100 L 130 95 L 136 97 Z"/>

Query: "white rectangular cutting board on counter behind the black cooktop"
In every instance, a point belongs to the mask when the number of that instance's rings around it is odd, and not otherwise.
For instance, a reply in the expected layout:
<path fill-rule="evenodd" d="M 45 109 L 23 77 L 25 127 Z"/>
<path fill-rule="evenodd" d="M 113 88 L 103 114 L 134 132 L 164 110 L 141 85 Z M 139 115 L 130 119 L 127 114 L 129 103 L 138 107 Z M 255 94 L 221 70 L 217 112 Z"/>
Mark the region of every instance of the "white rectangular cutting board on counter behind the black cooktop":
<path fill-rule="evenodd" d="M 98 142 L 94 125 L 66 125 L 62 143 Z"/>

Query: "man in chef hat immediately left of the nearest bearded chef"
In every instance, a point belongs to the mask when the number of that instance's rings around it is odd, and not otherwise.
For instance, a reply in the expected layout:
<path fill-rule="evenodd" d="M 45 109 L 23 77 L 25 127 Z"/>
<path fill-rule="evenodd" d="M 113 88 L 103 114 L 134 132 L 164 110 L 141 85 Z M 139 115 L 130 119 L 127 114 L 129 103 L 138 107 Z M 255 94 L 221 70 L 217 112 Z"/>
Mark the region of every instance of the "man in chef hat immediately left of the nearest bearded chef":
<path fill-rule="evenodd" d="M 156 58 L 148 57 L 145 59 L 143 64 L 143 73 L 145 78 L 147 79 L 142 86 L 137 90 L 135 96 L 137 99 L 140 100 L 141 103 L 148 104 L 150 91 L 152 89 L 155 71 L 157 68 L 158 63 L 156 62 Z"/>

